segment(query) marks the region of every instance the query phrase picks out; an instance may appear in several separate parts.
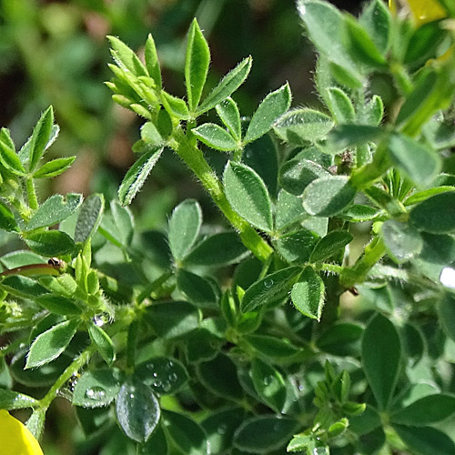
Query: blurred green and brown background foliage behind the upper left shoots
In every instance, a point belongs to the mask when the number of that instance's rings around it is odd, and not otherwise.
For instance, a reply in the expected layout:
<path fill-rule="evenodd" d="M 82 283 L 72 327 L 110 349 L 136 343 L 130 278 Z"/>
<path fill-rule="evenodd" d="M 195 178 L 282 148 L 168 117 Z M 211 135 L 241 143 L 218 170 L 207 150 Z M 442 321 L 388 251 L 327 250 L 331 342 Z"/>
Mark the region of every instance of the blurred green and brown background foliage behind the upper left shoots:
<path fill-rule="evenodd" d="M 333 2 L 356 13 L 359 2 Z M 289 81 L 295 105 L 313 105 L 314 55 L 302 35 L 292 0 L 0 0 L 0 125 L 16 145 L 25 142 L 40 113 L 56 110 L 60 137 L 49 158 L 76 155 L 70 171 L 40 196 L 116 188 L 136 157 L 131 151 L 140 119 L 111 102 L 104 86 L 111 74 L 106 35 L 116 35 L 139 54 L 147 34 L 157 43 L 167 90 L 183 96 L 187 27 L 196 16 L 208 39 L 212 63 L 207 87 L 253 56 L 253 70 L 237 94 L 250 116 L 270 91 Z M 220 154 L 211 157 L 221 167 Z M 135 203 L 140 222 L 159 227 L 177 200 L 202 198 L 176 157 L 167 153 Z M 172 186 L 169 187 L 169 182 Z M 144 206 L 147 207 L 144 207 Z M 207 217 L 216 217 L 210 204 Z M 147 214 L 154 214 L 147 217 Z M 206 219 L 207 219 L 206 217 Z"/>

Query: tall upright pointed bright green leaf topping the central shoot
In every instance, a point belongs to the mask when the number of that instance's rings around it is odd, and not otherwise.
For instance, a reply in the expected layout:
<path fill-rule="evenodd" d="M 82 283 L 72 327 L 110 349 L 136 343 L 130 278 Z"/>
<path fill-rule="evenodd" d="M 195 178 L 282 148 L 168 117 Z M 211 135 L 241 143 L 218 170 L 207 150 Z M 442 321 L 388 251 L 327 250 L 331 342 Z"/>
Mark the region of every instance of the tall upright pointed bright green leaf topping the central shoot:
<path fill-rule="evenodd" d="M 188 105 L 192 112 L 196 111 L 202 89 L 206 84 L 209 63 L 210 51 L 207 41 L 195 18 L 189 27 L 185 59 L 185 84 L 187 86 Z"/>

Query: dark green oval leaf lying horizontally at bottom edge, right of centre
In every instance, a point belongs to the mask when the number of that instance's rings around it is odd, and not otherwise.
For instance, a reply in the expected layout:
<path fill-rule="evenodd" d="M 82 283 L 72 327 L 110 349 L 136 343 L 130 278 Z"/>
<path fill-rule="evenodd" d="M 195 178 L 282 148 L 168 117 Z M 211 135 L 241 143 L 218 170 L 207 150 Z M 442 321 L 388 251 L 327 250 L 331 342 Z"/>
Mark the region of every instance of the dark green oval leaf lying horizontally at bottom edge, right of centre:
<path fill-rule="evenodd" d="M 234 434 L 234 445 L 248 453 L 267 453 L 286 445 L 300 425 L 287 417 L 252 417 Z"/>

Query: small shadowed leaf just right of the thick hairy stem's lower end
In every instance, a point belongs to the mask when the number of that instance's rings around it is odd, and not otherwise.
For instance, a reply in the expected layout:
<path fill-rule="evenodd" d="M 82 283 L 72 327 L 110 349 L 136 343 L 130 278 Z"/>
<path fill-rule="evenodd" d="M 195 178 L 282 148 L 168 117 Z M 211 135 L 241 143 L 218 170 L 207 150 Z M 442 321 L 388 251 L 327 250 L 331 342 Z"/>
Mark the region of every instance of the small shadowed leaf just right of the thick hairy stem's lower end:
<path fill-rule="evenodd" d="M 276 240 L 278 254 L 288 262 L 306 264 L 318 242 L 318 236 L 308 229 L 301 228 L 280 236 Z"/>

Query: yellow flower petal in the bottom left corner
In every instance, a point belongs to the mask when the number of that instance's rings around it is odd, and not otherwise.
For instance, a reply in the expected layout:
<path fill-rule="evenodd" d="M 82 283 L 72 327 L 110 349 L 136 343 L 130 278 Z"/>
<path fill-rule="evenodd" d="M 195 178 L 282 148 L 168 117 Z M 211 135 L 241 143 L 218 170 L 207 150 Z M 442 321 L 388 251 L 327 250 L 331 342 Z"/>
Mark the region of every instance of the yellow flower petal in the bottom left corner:
<path fill-rule="evenodd" d="M 34 435 L 7 410 L 0 410 L 0 452 L 3 455 L 43 455 Z"/>

